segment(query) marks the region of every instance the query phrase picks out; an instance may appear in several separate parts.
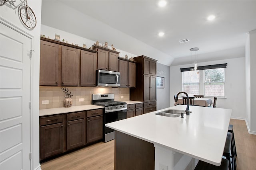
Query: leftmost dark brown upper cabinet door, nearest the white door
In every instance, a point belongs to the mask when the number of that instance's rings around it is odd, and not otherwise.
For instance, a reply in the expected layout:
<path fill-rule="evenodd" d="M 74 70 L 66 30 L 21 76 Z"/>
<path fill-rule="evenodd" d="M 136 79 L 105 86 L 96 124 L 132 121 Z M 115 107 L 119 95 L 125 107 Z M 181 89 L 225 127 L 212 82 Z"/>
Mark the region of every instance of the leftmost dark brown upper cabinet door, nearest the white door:
<path fill-rule="evenodd" d="M 58 86 L 59 45 L 41 40 L 40 85 Z"/>

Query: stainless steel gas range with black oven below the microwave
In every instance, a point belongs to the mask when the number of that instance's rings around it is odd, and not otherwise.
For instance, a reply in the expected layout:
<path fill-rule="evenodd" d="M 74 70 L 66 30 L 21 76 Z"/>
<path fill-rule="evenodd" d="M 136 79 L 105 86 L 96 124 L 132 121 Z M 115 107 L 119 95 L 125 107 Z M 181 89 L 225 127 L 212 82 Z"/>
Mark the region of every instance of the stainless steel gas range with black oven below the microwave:
<path fill-rule="evenodd" d="M 106 123 L 127 118 L 126 102 L 114 101 L 114 94 L 92 94 L 92 104 L 104 106 L 103 114 L 103 141 L 115 139 L 114 129 L 105 127 Z"/>

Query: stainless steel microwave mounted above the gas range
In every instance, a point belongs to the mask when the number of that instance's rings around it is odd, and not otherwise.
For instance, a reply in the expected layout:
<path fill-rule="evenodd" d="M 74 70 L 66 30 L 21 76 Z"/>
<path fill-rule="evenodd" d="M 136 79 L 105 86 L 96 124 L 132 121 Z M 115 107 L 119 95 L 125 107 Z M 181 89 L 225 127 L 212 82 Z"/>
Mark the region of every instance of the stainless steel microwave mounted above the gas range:
<path fill-rule="evenodd" d="M 120 86 L 120 72 L 98 70 L 98 86 Z"/>

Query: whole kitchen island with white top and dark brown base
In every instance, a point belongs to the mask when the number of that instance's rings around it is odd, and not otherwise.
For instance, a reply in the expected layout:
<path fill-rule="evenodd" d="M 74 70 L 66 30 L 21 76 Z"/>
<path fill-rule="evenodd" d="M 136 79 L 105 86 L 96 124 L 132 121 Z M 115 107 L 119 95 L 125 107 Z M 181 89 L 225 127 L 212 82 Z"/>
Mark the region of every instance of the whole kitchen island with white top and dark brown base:
<path fill-rule="evenodd" d="M 231 109 L 190 106 L 190 115 L 166 117 L 155 113 L 106 124 L 116 130 L 116 170 L 193 170 L 198 160 L 220 165 Z"/>

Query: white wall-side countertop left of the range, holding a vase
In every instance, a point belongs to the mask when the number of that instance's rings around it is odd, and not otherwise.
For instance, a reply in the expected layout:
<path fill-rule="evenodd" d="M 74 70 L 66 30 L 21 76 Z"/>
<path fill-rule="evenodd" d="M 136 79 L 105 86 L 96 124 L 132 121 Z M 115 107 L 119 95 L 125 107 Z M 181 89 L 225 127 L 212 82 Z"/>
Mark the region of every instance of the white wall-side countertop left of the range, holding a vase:
<path fill-rule="evenodd" d="M 40 109 L 39 110 L 39 116 L 54 115 L 54 114 L 59 114 L 59 113 L 69 113 L 69 112 L 91 110 L 91 109 L 101 109 L 101 108 L 104 108 L 104 107 L 88 104 L 88 105 L 82 105 L 82 106 L 58 107 L 58 108 L 52 108 L 52 109 Z"/>

